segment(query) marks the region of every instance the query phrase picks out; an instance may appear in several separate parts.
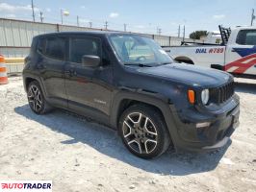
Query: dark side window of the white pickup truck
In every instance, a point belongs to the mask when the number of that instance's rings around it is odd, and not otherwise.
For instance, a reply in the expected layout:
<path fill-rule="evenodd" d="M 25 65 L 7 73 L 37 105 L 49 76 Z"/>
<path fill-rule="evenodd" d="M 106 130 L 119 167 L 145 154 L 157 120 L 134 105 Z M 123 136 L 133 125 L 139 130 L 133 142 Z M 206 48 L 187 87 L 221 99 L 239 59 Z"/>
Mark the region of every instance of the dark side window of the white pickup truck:
<path fill-rule="evenodd" d="M 256 45 L 256 30 L 242 30 L 236 42 L 240 45 Z"/>

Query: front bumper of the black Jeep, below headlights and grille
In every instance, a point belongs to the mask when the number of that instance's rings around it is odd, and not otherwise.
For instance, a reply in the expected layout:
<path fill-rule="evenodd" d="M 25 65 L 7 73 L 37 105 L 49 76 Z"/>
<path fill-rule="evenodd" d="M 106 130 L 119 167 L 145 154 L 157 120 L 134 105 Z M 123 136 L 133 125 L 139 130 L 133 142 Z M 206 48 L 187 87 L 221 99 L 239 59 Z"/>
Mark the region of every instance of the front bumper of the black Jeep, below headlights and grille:
<path fill-rule="evenodd" d="M 229 137 L 239 126 L 240 103 L 239 97 L 234 95 L 224 110 L 212 114 L 187 114 L 184 116 L 173 114 L 176 136 L 173 143 L 177 151 L 209 152 L 225 146 Z M 188 117 L 191 117 L 188 119 Z M 208 122 L 207 127 L 196 128 L 197 123 Z"/>

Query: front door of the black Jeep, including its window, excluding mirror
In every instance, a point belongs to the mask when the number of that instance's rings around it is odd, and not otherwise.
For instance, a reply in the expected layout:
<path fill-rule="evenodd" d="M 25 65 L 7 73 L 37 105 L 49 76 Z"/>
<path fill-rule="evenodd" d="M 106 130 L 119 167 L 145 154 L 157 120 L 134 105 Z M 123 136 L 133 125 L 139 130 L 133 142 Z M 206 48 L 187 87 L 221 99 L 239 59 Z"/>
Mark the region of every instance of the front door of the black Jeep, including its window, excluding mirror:
<path fill-rule="evenodd" d="M 64 67 L 68 108 L 103 121 L 108 120 L 114 90 L 113 67 L 103 54 L 105 51 L 100 38 L 72 36 Z M 100 57 L 100 66 L 83 65 L 84 55 Z"/>

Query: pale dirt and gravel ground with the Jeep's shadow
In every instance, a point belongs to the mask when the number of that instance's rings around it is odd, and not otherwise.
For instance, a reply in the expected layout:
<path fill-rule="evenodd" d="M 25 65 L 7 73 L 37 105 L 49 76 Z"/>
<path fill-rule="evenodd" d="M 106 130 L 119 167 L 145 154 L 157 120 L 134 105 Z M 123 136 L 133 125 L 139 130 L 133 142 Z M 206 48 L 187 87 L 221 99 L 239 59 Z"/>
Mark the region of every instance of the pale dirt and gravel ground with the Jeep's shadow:
<path fill-rule="evenodd" d="M 256 81 L 236 79 L 241 125 L 210 154 L 131 155 L 116 133 L 64 110 L 38 116 L 21 78 L 0 86 L 0 180 L 53 180 L 53 191 L 255 191 Z"/>

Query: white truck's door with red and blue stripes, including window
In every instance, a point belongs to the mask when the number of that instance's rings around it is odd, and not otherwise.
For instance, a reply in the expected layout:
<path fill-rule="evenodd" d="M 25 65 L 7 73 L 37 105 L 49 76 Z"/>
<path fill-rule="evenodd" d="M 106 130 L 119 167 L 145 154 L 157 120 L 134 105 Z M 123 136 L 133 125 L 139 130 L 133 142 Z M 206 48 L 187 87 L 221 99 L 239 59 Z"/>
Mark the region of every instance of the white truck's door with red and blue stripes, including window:
<path fill-rule="evenodd" d="M 256 30 L 241 30 L 236 41 L 227 46 L 225 70 L 256 75 Z"/>

